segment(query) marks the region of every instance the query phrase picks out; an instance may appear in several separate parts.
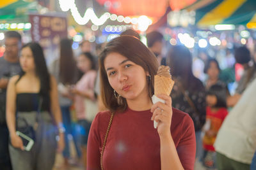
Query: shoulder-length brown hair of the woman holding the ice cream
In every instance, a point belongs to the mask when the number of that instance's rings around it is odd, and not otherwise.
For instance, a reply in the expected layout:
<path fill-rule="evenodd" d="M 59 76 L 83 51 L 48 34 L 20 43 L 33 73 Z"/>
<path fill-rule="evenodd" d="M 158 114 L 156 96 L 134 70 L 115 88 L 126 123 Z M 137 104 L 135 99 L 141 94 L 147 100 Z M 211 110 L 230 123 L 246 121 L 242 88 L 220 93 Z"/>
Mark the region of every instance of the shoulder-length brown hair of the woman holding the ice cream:
<path fill-rule="evenodd" d="M 150 80 L 148 81 L 148 97 L 154 94 L 154 75 L 157 73 L 158 62 L 155 55 L 148 50 L 141 41 L 133 36 L 120 36 L 113 39 L 106 45 L 99 56 L 99 70 L 100 70 L 100 89 L 102 101 L 106 108 L 110 111 L 124 111 L 127 108 L 127 102 L 123 97 L 120 97 L 120 102 L 114 96 L 113 88 L 109 84 L 108 75 L 104 67 L 104 60 L 109 53 L 120 53 L 127 57 L 135 64 L 143 67 L 148 71 Z"/>

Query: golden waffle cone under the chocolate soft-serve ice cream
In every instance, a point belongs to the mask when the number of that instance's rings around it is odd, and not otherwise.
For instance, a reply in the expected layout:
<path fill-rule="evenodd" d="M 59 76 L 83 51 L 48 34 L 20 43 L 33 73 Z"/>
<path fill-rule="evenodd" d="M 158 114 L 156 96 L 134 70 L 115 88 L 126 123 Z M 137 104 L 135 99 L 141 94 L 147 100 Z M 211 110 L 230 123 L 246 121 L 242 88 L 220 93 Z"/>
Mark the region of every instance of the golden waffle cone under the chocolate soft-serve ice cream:
<path fill-rule="evenodd" d="M 174 81 L 172 80 L 172 78 L 168 78 L 165 76 L 159 76 L 159 75 L 155 75 L 155 83 L 154 83 L 154 91 L 155 91 L 155 95 L 158 94 L 166 94 L 168 96 L 170 96 L 171 92 L 172 92 L 172 88 L 174 85 Z"/>

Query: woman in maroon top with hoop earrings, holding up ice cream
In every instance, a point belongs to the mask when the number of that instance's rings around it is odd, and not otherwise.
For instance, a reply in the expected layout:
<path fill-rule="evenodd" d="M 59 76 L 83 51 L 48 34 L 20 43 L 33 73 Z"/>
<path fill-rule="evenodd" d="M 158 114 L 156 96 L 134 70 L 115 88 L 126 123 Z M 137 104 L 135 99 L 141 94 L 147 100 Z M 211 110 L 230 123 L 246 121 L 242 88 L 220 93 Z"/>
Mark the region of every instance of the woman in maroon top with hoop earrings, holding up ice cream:
<path fill-rule="evenodd" d="M 103 103 L 93 120 L 87 169 L 193 169 L 195 131 L 188 114 L 152 103 L 158 62 L 132 36 L 113 39 L 100 55 Z M 158 122 L 154 129 L 153 120 Z"/>

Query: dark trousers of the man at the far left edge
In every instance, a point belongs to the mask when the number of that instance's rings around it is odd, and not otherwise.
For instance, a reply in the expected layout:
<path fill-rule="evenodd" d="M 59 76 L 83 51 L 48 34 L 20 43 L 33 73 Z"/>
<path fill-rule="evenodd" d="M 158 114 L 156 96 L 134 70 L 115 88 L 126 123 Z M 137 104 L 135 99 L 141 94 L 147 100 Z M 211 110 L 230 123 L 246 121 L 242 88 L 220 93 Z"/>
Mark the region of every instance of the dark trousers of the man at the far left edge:
<path fill-rule="evenodd" d="M 8 150 L 9 131 L 6 124 L 0 124 L 0 169 L 11 170 L 11 160 Z"/>

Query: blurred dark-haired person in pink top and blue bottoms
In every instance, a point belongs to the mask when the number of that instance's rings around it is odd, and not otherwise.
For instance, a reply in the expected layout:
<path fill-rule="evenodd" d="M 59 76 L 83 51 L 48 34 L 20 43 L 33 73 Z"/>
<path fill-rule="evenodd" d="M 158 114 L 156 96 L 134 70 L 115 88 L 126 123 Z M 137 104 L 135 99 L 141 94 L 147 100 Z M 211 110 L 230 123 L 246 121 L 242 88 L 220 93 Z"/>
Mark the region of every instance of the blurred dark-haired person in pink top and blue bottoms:
<path fill-rule="evenodd" d="M 79 81 L 77 81 L 76 86 L 72 87 L 71 92 L 74 94 L 74 105 L 76 110 L 77 124 L 79 125 L 79 137 L 81 140 L 81 150 L 82 150 L 82 160 L 84 166 L 86 166 L 86 146 L 88 141 L 88 133 L 90 131 L 91 123 L 87 120 L 86 105 L 84 99 L 90 99 L 96 101 L 94 86 L 95 79 L 97 76 L 96 64 L 94 57 L 91 53 L 85 52 L 79 55 L 77 59 L 77 67 L 84 73 Z"/>

